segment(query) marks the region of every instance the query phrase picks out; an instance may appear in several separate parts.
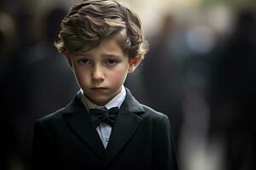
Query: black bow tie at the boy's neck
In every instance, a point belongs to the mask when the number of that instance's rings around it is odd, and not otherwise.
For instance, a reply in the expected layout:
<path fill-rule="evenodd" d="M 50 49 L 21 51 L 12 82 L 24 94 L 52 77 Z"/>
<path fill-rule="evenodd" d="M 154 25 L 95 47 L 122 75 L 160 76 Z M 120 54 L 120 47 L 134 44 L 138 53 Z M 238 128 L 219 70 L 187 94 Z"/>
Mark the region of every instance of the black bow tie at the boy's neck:
<path fill-rule="evenodd" d="M 108 123 L 111 127 L 115 122 L 117 114 L 119 112 L 118 107 L 113 107 L 109 110 L 102 110 L 102 109 L 90 109 L 90 118 L 91 121 L 97 127 L 101 122 Z"/>

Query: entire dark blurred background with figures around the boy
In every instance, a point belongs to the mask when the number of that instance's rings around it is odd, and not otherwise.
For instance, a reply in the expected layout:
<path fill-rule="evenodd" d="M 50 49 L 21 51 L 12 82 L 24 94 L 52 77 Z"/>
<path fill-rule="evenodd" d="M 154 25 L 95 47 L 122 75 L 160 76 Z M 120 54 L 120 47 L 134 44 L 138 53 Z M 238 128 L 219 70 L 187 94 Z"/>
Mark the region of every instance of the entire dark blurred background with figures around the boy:
<path fill-rule="evenodd" d="M 33 123 L 79 87 L 53 46 L 72 0 L 0 2 L 0 169 L 31 169 Z M 125 86 L 166 113 L 180 170 L 255 170 L 256 3 L 127 0 L 149 42 Z"/>

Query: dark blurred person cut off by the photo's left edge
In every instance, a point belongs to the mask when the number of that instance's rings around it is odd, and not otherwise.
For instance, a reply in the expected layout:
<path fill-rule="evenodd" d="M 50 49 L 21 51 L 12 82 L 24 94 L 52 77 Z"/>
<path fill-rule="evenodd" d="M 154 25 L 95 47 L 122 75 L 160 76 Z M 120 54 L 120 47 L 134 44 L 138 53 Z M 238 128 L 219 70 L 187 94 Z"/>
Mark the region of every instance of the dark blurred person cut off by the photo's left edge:
<path fill-rule="evenodd" d="M 13 106 L 9 104 L 9 70 L 10 58 L 17 48 L 16 27 L 14 18 L 0 11 L 0 133 L 1 133 L 1 161 L 0 169 L 7 169 L 9 161 L 15 155 L 15 128 L 13 122 Z"/>

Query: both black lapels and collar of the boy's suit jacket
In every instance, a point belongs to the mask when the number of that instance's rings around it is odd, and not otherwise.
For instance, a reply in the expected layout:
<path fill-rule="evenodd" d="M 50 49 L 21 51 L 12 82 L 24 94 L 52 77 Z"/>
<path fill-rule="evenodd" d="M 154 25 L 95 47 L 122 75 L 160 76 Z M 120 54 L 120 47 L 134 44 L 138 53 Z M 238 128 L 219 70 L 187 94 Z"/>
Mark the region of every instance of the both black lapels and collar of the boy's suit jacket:
<path fill-rule="evenodd" d="M 89 113 L 79 99 L 79 93 L 65 108 L 65 119 L 68 125 L 79 136 L 79 139 L 82 139 L 103 160 L 104 167 L 108 167 L 113 158 L 118 156 L 119 151 L 129 142 L 142 121 L 140 113 L 144 112 L 143 106 L 137 102 L 127 88 L 125 90 L 125 100 L 120 107 L 106 150 L 96 132 L 96 127 L 90 121 Z"/>

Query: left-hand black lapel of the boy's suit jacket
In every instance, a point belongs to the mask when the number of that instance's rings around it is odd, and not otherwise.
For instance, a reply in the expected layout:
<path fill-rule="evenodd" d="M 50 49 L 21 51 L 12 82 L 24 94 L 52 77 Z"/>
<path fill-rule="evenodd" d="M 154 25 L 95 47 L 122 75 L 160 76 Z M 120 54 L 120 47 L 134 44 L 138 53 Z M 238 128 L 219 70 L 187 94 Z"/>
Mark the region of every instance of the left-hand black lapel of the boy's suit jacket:
<path fill-rule="evenodd" d="M 73 129 L 73 132 L 79 139 L 82 139 L 98 157 L 103 159 L 105 149 L 102 140 L 96 132 L 96 127 L 90 121 L 89 113 L 79 101 L 79 94 L 67 105 L 66 110 L 65 119 L 69 127 Z"/>

